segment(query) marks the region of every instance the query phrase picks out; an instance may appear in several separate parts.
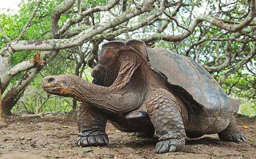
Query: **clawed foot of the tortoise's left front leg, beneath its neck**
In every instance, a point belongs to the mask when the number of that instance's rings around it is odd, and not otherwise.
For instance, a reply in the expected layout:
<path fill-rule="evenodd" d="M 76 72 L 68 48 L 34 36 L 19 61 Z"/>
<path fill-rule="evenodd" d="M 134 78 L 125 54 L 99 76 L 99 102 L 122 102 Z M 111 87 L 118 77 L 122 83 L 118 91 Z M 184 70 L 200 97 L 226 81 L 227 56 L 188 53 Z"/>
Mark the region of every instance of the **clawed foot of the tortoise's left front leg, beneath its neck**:
<path fill-rule="evenodd" d="M 94 135 L 94 136 L 83 136 L 82 133 L 79 134 L 78 146 L 88 147 L 88 146 L 106 146 L 109 143 L 108 135 Z"/>

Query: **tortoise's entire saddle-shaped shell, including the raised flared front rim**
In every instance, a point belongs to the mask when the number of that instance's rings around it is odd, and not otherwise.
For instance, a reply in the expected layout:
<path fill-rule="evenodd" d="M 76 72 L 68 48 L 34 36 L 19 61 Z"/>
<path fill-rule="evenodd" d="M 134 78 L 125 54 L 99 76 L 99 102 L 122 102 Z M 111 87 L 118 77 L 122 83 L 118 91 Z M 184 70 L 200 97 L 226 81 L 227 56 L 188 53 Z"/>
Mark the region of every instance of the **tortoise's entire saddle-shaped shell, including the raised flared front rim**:
<path fill-rule="evenodd" d="M 110 71 L 102 73 L 100 76 L 104 77 L 104 81 L 101 80 L 95 84 L 110 86 L 114 82 L 118 74 L 115 70 L 119 69 L 114 68 L 112 60 L 122 60 L 118 59 L 116 54 L 123 48 L 134 50 L 129 53 L 139 54 L 152 71 L 164 77 L 169 89 L 179 94 L 187 103 L 189 112 L 218 117 L 232 116 L 238 111 L 237 107 L 234 109 L 232 105 L 239 106 L 239 102 L 229 99 L 218 82 L 193 59 L 167 49 L 147 48 L 140 40 L 111 41 L 104 44 L 98 54 L 98 67 L 105 65 L 104 69 L 112 70 L 113 73 L 110 74 Z M 100 81 L 100 77 L 94 77 L 94 79 Z"/>

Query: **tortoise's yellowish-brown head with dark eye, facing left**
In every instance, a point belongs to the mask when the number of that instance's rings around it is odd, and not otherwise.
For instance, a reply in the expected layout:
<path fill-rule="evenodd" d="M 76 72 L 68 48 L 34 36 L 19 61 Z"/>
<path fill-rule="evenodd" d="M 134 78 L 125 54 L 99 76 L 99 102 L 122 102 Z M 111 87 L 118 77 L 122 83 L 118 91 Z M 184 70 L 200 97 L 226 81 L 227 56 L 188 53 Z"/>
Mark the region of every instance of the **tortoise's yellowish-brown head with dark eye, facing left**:
<path fill-rule="evenodd" d="M 42 78 L 41 86 L 44 91 L 63 97 L 72 97 L 74 83 L 78 81 L 78 76 L 59 75 Z"/>

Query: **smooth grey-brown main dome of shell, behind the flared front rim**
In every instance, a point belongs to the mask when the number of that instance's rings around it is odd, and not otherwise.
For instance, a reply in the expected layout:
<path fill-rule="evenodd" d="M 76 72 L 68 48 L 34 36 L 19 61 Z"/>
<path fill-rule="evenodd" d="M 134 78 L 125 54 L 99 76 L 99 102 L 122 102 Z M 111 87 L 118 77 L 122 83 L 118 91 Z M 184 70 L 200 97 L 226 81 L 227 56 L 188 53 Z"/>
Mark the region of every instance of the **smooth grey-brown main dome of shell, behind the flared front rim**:
<path fill-rule="evenodd" d="M 188 103 L 192 112 L 204 116 L 232 116 L 232 106 L 218 82 L 190 57 L 172 51 L 147 49 L 150 67 L 166 77 L 169 87 Z"/>

